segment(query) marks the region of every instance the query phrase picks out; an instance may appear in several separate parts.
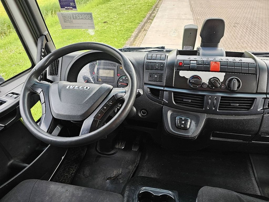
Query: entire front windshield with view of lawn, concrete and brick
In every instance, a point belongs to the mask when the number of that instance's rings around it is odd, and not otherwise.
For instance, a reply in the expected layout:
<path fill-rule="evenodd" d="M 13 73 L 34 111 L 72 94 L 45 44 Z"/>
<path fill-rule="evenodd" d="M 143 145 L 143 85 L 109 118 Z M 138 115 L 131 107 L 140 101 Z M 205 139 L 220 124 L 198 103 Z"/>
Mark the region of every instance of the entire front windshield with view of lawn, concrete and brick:
<path fill-rule="evenodd" d="M 61 11 L 59 0 L 37 0 L 56 48 L 81 41 L 116 48 L 141 46 L 182 49 L 184 26 L 198 26 L 194 50 L 206 18 L 225 20 L 225 51 L 268 51 L 269 2 L 224 0 L 76 0 L 77 11 Z M 94 29 L 62 29 L 57 12 L 91 12 Z M 72 23 L 70 23 L 71 25 Z"/>

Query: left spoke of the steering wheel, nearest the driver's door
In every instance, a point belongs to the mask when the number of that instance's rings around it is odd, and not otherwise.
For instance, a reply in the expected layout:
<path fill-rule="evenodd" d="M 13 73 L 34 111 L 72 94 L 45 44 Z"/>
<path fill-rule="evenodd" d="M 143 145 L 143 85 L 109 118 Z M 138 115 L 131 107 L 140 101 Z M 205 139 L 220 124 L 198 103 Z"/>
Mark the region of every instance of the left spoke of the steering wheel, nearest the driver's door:
<path fill-rule="evenodd" d="M 47 133 L 52 132 L 53 128 L 51 128 L 51 126 L 54 121 L 54 117 L 52 116 L 49 106 L 50 85 L 51 83 L 47 82 L 36 82 L 31 85 L 31 89 L 40 96 L 40 102 L 42 105 L 42 116 L 39 122 L 39 127 Z"/>

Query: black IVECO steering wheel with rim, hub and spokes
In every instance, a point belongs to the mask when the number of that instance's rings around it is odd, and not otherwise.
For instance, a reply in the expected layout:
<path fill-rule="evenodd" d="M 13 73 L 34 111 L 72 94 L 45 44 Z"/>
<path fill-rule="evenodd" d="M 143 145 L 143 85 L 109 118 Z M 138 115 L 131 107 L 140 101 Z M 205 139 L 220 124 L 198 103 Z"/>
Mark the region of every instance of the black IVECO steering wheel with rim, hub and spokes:
<path fill-rule="evenodd" d="M 82 50 L 97 50 L 114 56 L 121 62 L 129 85 L 126 88 L 113 88 L 108 84 L 38 81 L 42 72 L 56 59 Z M 75 43 L 53 51 L 32 69 L 22 88 L 20 114 L 25 126 L 39 140 L 59 147 L 76 147 L 95 142 L 115 130 L 130 112 L 136 92 L 137 77 L 134 67 L 121 51 L 102 43 Z M 30 111 L 30 97 L 33 94 L 40 95 L 42 103 L 43 115 L 39 125 Z M 105 114 L 105 109 L 113 107 L 114 103 L 121 100 L 124 103 L 119 112 L 104 126 L 91 131 L 91 128 L 97 126 L 100 116 Z M 84 121 L 79 136 L 58 137 L 49 134 L 55 119 Z"/>

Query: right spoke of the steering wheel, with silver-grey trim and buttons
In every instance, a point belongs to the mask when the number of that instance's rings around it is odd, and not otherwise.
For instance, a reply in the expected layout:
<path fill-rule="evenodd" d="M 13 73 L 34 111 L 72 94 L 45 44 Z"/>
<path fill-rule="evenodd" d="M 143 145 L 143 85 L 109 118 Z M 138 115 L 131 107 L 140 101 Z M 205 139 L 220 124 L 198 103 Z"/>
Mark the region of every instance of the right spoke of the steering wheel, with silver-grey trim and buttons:
<path fill-rule="evenodd" d="M 125 88 L 113 88 L 94 112 L 84 120 L 79 136 L 86 135 L 94 131 L 109 107 L 112 107 L 118 100 L 125 100 L 125 95 Z"/>

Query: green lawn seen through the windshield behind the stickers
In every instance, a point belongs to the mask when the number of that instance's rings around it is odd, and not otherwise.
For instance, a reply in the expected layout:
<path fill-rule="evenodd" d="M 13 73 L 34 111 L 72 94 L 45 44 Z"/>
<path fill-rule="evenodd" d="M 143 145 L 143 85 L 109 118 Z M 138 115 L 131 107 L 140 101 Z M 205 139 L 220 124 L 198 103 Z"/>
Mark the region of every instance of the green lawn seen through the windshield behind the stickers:
<path fill-rule="evenodd" d="M 95 41 L 121 48 L 156 0 L 76 0 L 77 11 L 93 13 L 95 29 L 62 29 L 58 0 L 37 0 L 56 48 L 82 41 Z"/>

